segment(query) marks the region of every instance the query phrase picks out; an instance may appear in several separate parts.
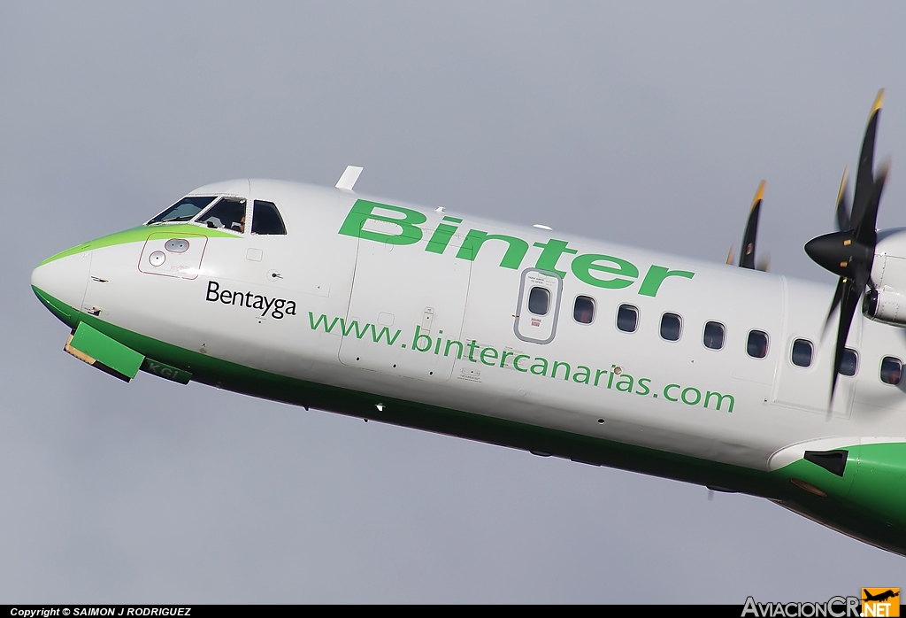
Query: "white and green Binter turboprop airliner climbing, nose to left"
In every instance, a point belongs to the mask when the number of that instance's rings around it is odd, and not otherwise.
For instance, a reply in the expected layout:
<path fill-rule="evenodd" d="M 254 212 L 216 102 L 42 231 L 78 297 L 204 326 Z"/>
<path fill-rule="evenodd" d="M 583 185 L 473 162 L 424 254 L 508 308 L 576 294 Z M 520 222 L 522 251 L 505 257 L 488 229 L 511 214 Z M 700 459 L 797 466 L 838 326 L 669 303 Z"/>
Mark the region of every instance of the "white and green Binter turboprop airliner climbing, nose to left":
<path fill-rule="evenodd" d="M 852 208 L 844 176 L 838 231 L 805 246 L 835 289 L 755 267 L 760 188 L 736 266 L 361 195 L 353 167 L 198 188 L 32 287 L 65 351 L 121 380 L 743 492 L 906 555 L 906 228 L 876 230 L 881 100 Z"/>

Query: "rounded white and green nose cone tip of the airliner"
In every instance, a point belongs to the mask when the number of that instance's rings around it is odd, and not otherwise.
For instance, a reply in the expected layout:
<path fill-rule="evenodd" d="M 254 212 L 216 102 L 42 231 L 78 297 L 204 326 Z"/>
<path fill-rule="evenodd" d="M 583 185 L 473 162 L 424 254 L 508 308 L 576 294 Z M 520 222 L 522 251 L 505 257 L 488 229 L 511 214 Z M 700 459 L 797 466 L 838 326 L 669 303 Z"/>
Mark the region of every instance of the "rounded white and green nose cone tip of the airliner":
<path fill-rule="evenodd" d="M 44 262 L 32 272 L 32 289 L 52 314 L 73 328 L 82 311 L 85 288 L 92 266 L 92 252 Z"/>

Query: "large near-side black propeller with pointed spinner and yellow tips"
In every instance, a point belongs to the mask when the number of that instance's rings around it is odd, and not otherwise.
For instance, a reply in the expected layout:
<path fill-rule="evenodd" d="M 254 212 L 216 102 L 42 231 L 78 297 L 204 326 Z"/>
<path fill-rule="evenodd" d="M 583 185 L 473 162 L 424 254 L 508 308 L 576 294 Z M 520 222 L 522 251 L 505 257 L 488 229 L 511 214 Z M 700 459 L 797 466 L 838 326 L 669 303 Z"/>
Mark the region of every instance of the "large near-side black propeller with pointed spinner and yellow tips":
<path fill-rule="evenodd" d="M 865 287 L 871 285 L 874 247 L 878 240 L 878 205 L 881 203 L 884 182 L 890 170 L 890 164 L 885 161 L 877 177 L 873 173 L 874 138 L 878 129 L 883 96 L 882 89 L 874 100 L 872 113 L 868 118 L 868 126 L 865 128 L 862 154 L 859 158 L 859 168 L 855 179 L 852 210 L 847 198 L 848 170 L 844 170 L 840 191 L 837 194 L 836 224 L 838 231 L 813 238 L 805 244 L 805 253 L 818 266 L 822 266 L 840 277 L 834 290 L 834 300 L 831 302 L 831 308 L 824 321 L 826 332 L 834 312 L 839 308 L 840 320 L 837 323 L 833 377 L 831 379 L 832 401 L 837 386 L 837 376 L 840 373 L 840 362 L 843 360 L 845 351 L 846 337 L 849 335 L 850 326 L 853 323 L 853 315 L 865 292 Z"/>

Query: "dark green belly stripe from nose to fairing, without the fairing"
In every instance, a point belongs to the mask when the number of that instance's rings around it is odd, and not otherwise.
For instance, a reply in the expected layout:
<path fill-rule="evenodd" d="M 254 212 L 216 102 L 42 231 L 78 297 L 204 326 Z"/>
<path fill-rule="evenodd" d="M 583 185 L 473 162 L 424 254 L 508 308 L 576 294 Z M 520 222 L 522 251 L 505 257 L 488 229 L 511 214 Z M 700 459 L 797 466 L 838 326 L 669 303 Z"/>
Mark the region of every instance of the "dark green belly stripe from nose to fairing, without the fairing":
<path fill-rule="evenodd" d="M 35 289 L 45 304 L 55 299 Z M 59 303 L 59 301 L 56 301 Z M 392 399 L 368 392 L 297 380 L 283 375 L 263 372 L 244 365 L 215 358 L 170 343 L 164 343 L 140 333 L 104 322 L 90 314 L 79 314 L 78 321 L 106 334 L 136 352 L 165 362 L 179 370 L 190 372 L 198 381 L 227 391 L 241 392 L 253 397 L 284 401 L 306 408 L 330 410 L 348 416 L 379 420 L 394 425 L 428 430 L 514 449 L 551 453 L 556 457 L 574 459 L 611 468 L 628 469 L 643 474 L 672 478 L 698 485 L 714 485 L 762 497 L 786 497 L 786 482 L 778 482 L 765 470 L 743 468 L 730 464 L 647 449 L 608 439 L 584 436 L 564 430 L 537 427 L 514 420 L 499 419 L 474 412 L 432 406 L 415 401 Z M 216 352 L 213 352 L 216 353 Z M 383 403 L 383 410 L 375 407 Z"/>

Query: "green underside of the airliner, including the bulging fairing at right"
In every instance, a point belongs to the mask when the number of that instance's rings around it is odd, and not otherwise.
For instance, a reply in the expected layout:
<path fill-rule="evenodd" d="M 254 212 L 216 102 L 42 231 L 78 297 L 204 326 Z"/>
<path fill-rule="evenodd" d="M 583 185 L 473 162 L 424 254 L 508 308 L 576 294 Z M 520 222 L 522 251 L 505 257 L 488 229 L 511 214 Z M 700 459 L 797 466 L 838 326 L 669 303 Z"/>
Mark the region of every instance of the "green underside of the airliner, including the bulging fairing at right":
<path fill-rule="evenodd" d="M 61 307 L 65 306 L 42 290 L 34 288 L 34 293 L 44 304 L 57 311 L 61 311 Z M 72 312 L 73 322 L 89 323 L 101 333 L 148 358 L 168 363 L 181 371 L 191 372 L 193 381 L 262 399 L 284 401 L 304 406 L 306 409 L 312 407 L 329 410 L 514 449 L 550 453 L 556 457 L 583 463 L 622 468 L 661 478 L 729 488 L 766 497 L 843 534 L 906 555 L 906 535 L 902 532 L 901 526 L 893 525 L 890 517 L 892 511 L 898 513 L 902 508 L 901 475 L 906 473 L 904 472 L 906 445 L 878 444 L 856 447 L 863 449 L 860 463 L 864 465 L 871 462 L 872 465 L 867 467 L 872 469 L 870 478 L 865 479 L 864 486 L 853 487 L 853 491 L 849 492 L 846 487 L 849 486 L 851 475 L 855 472 L 853 462 L 847 463 L 843 478 L 834 477 L 831 472 L 804 459 L 774 472 L 743 468 L 474 412 L 397 400 L 368 392 L 288 378 L 217 359 L 210 353 L 202 354 L 180 348 L 106 323 L 96 316 L 80 314 L 72 308 L 69 310 Z M 383 404 L 382 410 L 375 407 L 378 402 Z M 886 462 L 881 466 L 883 469 L 878 469 L 877 460 Z M 901 461 L 904 462 L 903 465 Z M 876 475 L 877 472 L 883 474 Z M 805 477 L 803 480 L 809 480 L 817 487 L 823 486 L 828 496 L 814 496 L 805 489 L 796 487 L 790 482 L 791 477 Z M 861 481 L 863 478 L 860 477 L 855 485 L 859 486 Z M 872 495 L 877 494 L 885 495 L 872 498 Z M 889 504 L 878 504 L 879 501 Z"/>

